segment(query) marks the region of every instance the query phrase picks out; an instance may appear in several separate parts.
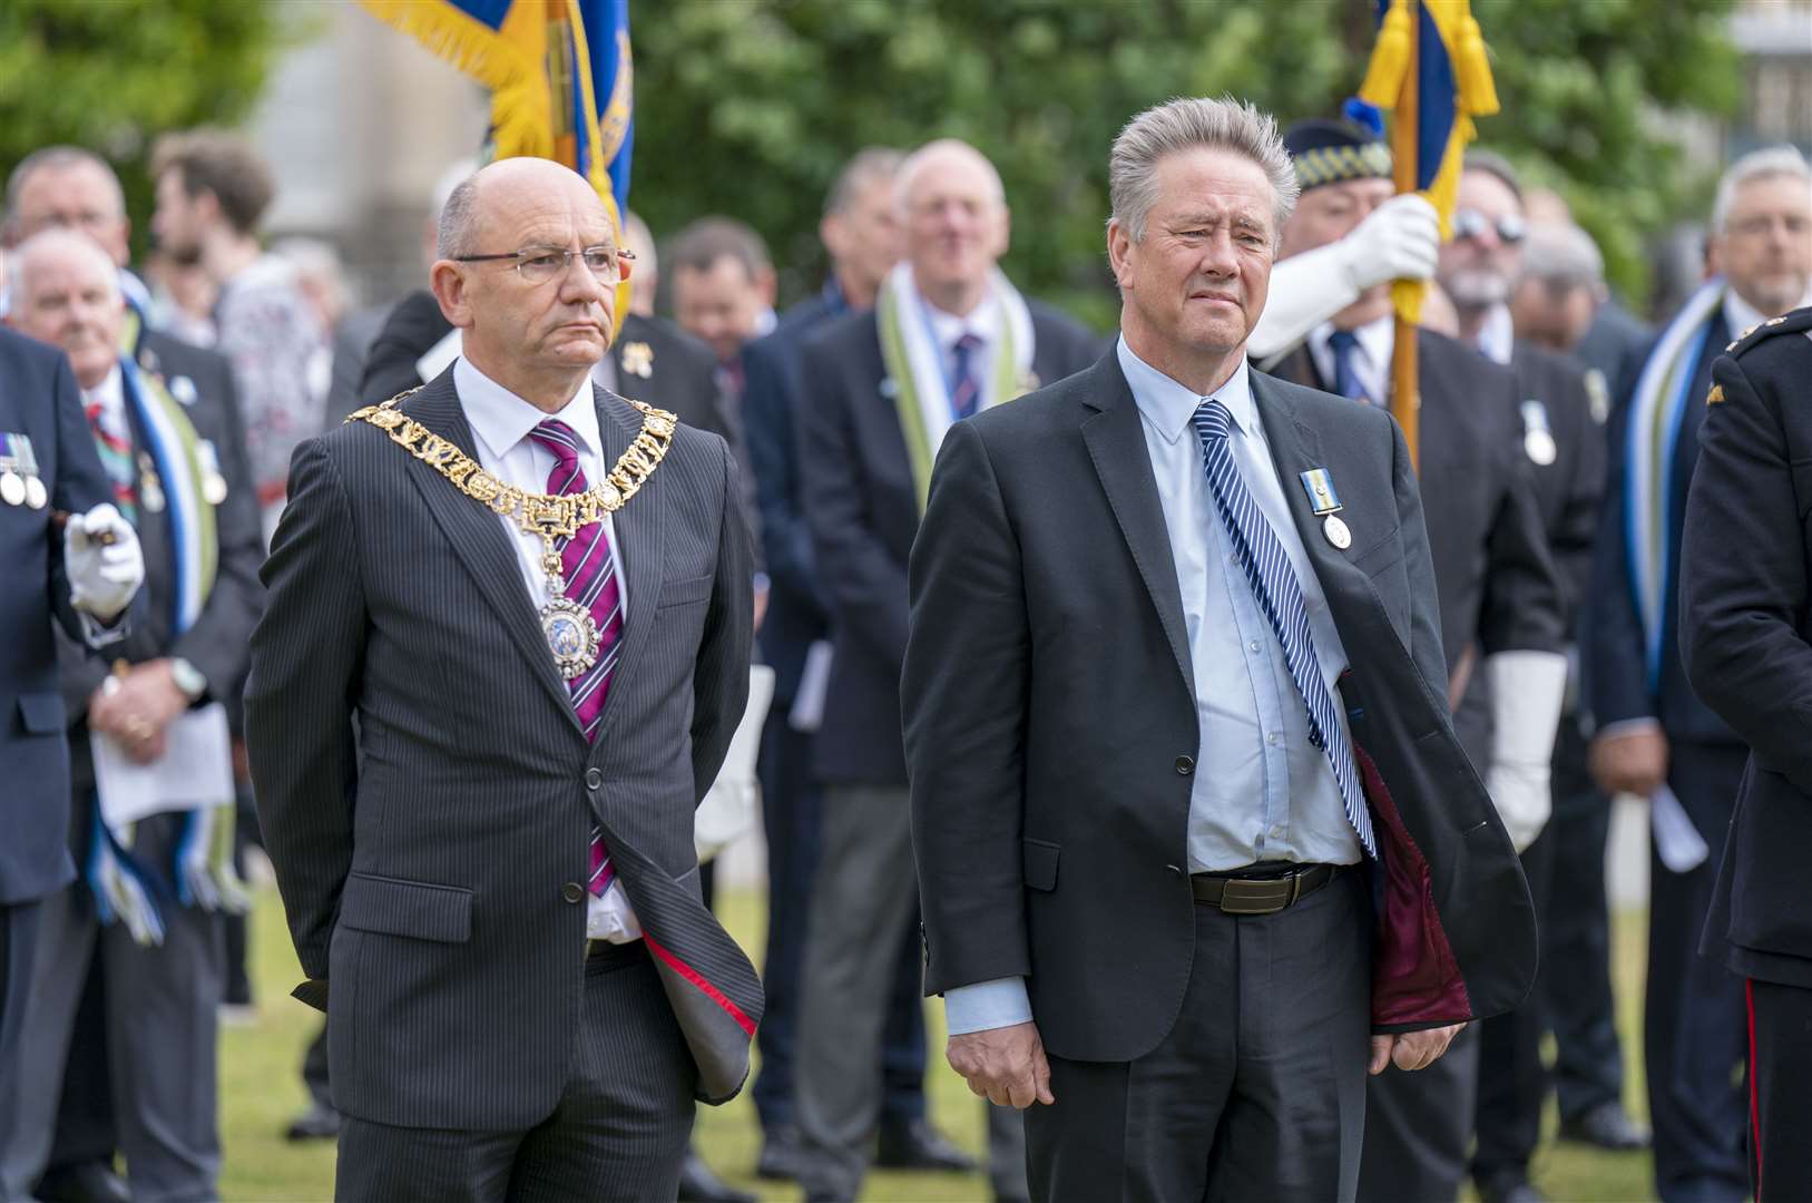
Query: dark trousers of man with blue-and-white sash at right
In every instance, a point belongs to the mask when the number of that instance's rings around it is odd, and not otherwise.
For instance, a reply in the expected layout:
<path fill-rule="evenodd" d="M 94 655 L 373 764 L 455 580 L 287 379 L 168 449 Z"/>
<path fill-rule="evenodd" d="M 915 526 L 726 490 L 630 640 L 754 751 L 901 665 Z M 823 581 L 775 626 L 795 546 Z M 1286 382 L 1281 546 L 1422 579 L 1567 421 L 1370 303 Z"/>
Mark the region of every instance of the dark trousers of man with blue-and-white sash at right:
<path fill-rule="evenodd" d="M 1698 955 L 1736 786 L 1749 752 L 1740 745 L 1672 745 L 1667 781 L 1711 846 L 1691 873 L 1649 857 L 1649 977 L 1643 1062 L 1654 1123 L 1654 1189 L 1663 1203 L 1743 1199 L 1747 1053 L 1743 982 Z"/>

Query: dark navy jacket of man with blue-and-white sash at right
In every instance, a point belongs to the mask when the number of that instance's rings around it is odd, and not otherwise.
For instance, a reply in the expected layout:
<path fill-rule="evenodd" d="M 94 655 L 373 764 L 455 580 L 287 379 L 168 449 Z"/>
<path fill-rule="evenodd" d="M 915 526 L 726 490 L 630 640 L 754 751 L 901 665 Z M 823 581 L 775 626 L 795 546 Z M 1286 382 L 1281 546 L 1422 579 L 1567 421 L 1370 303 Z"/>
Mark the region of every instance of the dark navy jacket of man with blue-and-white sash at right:
<path fill-rule="evenodd" d="M 1593 553 L 1591 605 L 1586 614 L 1586 696 L 1598 727 L 1636 717 L 1660 719 L 1669 739 L 1691 743 L 1736 743 L 1736 734 L 1687 683 L 1680 661 L 1680 534 L 1685 529 L 1687 489 L 1698 464 L 1698 433 L 1705 406 L 1698 399 L 1711 391 L 1711 364 L 1730 339 L 1720 310 L 1687 386 L 1685 417 L 1674 442 L 1672 480 L 1667 498 L 1669 574 L 1662 596 L 1662 672 L 1658 688 L 1649 688 L 1642 621 L 1636 618 L 1634 587 L 1629 574 L 1629 507 L 1624 480 L 1629 475 L 1629 406 L 1642 366 L 1653 344 L 1642 348 L 1624 366 L 1618 404 L 1605 426 L 1605 491 L 1598 518 L 1598 544 Z"/>

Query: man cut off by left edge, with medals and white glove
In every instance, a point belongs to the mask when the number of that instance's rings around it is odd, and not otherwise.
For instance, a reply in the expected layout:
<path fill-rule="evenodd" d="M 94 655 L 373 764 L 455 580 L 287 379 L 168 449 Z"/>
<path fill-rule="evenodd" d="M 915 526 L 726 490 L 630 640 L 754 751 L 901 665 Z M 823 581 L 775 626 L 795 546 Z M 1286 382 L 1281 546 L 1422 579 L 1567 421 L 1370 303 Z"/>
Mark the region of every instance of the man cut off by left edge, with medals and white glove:
<path fill-rule="evenodd" d="M 143 580 L 132 527 L 112 509 L 107 475 L 82 419 L 82 393 L 56 348 L 0 328 L 0 759 L 11 784 L 0 804 L 0 1132 L 18 1125 L 20 1040 L 36 962 L 42 904 L 76 870 L 69 832 L 67 714 L 58 692 L 60 625 L 72 641 L 105 649 L 125 636 L 127 603 Z M 27 498 L 31 478 L 43 489 Z M 13 484 L 7 484 L 7 482 Z M 96 509 L 101 513 L 94 515 Z M 53 513 L 74 515 L 58 531 Z M 107 547 L 87 534 L 118 538 Z M 114 551 L 118 549 L 118 551 Z M 107 553 L 112 551 L 112 556 Z M 112 560 L 109 563 L 109 560 Z M 107 580 L 112 576 L 112 580 Z M 112 629 L 109 629 L 109 625 Z M 4 1152 L 4 1150 L 0 1150 Z M 4 1189 L 4 1183 L 0 1183 Z"/>

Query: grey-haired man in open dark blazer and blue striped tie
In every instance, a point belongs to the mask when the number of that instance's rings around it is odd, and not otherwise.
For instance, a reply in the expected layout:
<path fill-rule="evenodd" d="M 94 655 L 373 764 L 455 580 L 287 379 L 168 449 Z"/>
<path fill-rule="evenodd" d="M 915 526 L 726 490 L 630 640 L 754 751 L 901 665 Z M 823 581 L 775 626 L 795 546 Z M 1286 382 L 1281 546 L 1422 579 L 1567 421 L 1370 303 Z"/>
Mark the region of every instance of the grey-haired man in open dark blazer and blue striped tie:
<path fill-rule="evenodd" d="M 1352 1199 L 1366 1071 L 1524 998 L 1529 897 L 1401 433 L 1245 362 L 1276 125 L 1169 101 L 1111 190 L 1120 344 L 957 424 L 913 547 L 926 989 L 1035 1198 Z"/>

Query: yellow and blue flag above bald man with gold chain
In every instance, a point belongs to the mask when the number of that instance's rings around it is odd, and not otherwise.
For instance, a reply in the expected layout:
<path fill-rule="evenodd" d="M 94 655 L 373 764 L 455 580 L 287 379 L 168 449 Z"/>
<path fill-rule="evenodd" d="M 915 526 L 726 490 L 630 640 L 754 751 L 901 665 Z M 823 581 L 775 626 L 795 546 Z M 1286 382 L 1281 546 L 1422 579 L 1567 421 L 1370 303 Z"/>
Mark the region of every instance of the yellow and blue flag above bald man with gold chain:
<path fill-rule="evenodd" d="M 565 163 L 603 197 L 622 241 L 636 141 L 629 0 L 361 4 L 491 89 L 491 159 Z"/>

